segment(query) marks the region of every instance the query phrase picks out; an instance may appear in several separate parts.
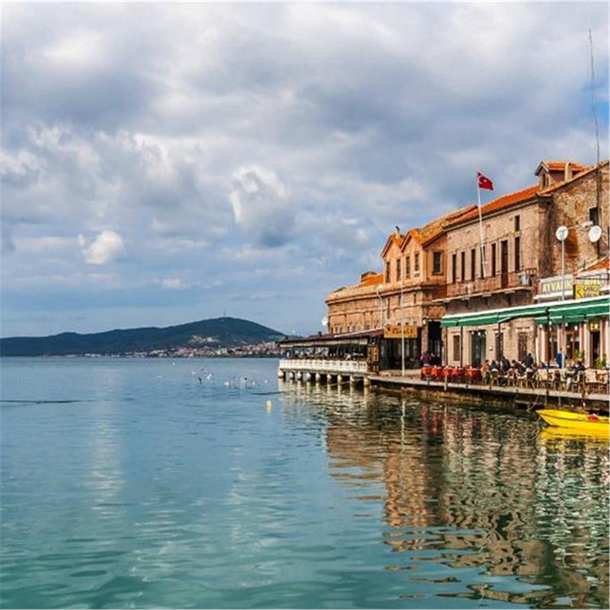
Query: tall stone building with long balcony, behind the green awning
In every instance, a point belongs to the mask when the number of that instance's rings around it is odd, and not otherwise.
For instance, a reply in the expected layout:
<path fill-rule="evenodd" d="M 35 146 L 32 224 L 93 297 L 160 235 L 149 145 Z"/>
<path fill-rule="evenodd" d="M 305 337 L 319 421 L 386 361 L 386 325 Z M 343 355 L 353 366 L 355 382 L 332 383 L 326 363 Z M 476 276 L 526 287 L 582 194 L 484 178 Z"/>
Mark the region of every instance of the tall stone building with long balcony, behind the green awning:
<path fill-rule="evenodd" d="M 534 317 L 511 317 L 506 312 L 506 320 L 499 324 L 456 323 L 460 315 L 472 321 L 476 312 L 535 303 L 539 281 L 561 274 L 561 242 L 555 236 L 559 226 L 569 228 L 564 256 L 570 281 L 572 274 L 608 253 L 608 161 L 589 168 L 545 161 L 535 174 L 537 184 L 481 207 L 483 243 L 477 209 L 445 227 L 450 262 L 443 303 L 455 323 L 444 331 L 447 364 L 478 366 L 502 354 L 522 359 L 527 353 L 549 360 L 554 349 L 565 347 L 558 325 L 547 328 Z M 596 243 L 590 242 L 585 223 L 601 227 Z M 607 318 L 600 324 L 601 336 L 606 337 L 600 349 L 608 354 Z M 583 325 L 569 332 L 582 336 L 580 346 L 586 343 Z M 576 353 L 575 348 L 572 351 Z"/>

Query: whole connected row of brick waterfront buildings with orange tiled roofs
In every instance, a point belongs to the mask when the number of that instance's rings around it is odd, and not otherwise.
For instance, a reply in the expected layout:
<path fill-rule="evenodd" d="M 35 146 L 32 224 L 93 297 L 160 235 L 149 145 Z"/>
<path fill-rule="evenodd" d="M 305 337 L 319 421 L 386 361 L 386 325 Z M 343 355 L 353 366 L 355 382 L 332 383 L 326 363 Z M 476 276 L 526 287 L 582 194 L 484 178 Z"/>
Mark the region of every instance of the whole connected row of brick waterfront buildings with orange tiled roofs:
<path fill-rule="evenodd" d="M 481 207 L 483 243 L 475 205 L 422 228 L 397 227 L 381 251 L 381 273 L 366 271 L 359 284 L 326 298 L 329 335 L 370 337 L 381 368 L 400 367 L 403 337 L 407 366 L 418 365 L 426 350 L 450 365 L 479 365 L 501 354 L 550 360 L 559 349 L 572 357 L 584 348 L 588 365 L 608 356 L 607 316 L 590 323 L 572 316 L 560 325 L 563 318 L 554 312 L 555 323 L 545 325 L 540 313 L 514 314 L 539 303 L 541 286 L 561 274 L 559 226 L 569 228 L 566 281 L 593 273 L 608 255 L 608 161 L 592 167 L 542 161 L 534 175 L 535 184 Z M 583 223 L 600 226 L 601 239 L 590 242 Z M 608 264 L 601 267 L 598 277 L 607 290 Z M 571 286 L 564 287 L 566 298 Z M 481 312 L 501 315 L 489 323 Z"/>

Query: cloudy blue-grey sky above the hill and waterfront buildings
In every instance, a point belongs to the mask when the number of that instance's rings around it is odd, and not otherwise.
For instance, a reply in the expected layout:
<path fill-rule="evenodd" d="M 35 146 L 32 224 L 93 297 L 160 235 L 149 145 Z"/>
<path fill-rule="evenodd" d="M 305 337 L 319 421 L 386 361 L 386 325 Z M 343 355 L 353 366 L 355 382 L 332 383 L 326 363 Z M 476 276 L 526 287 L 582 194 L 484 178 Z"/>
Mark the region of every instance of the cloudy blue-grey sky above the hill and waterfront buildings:
<path fill-rule="evenodd" d="M 476 171 L 499 196 L 595 162 L 589 26 L 608 157 L 606 2 L 1 11 L 4 337 L 320 330 L 395 225 L 476 201 Z"/>

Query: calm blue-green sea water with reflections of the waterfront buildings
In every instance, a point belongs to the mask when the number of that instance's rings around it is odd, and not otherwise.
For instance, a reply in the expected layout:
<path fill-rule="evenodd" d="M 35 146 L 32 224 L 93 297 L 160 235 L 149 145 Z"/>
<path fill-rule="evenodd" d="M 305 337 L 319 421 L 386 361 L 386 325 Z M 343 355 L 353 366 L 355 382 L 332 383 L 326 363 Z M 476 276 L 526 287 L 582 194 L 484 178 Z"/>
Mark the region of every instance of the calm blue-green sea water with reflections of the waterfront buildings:
<path fill-rule="evenodd" d="M 608 608 L 607 442 L 274 360 L 1 365 L 2 608 Z"/>

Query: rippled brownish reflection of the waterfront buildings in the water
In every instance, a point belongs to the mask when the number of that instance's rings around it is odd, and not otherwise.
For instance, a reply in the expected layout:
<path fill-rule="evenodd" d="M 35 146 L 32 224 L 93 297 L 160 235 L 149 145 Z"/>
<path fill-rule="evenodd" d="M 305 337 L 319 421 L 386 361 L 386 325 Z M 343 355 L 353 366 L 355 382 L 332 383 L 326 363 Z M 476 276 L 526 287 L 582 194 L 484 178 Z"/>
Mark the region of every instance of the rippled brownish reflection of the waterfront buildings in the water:
<path fill-rule="evenodd" d="M 285 407 L 324 415 L 337 483 L 382 503 L 382 542 L 406 558 L 387 569 L 436 562 L 442 577 L 406 578 L 453 583 L 441 597 L 608 608 L 607 440 L 550 437 L 501 411 L 284 388 Z"/>

